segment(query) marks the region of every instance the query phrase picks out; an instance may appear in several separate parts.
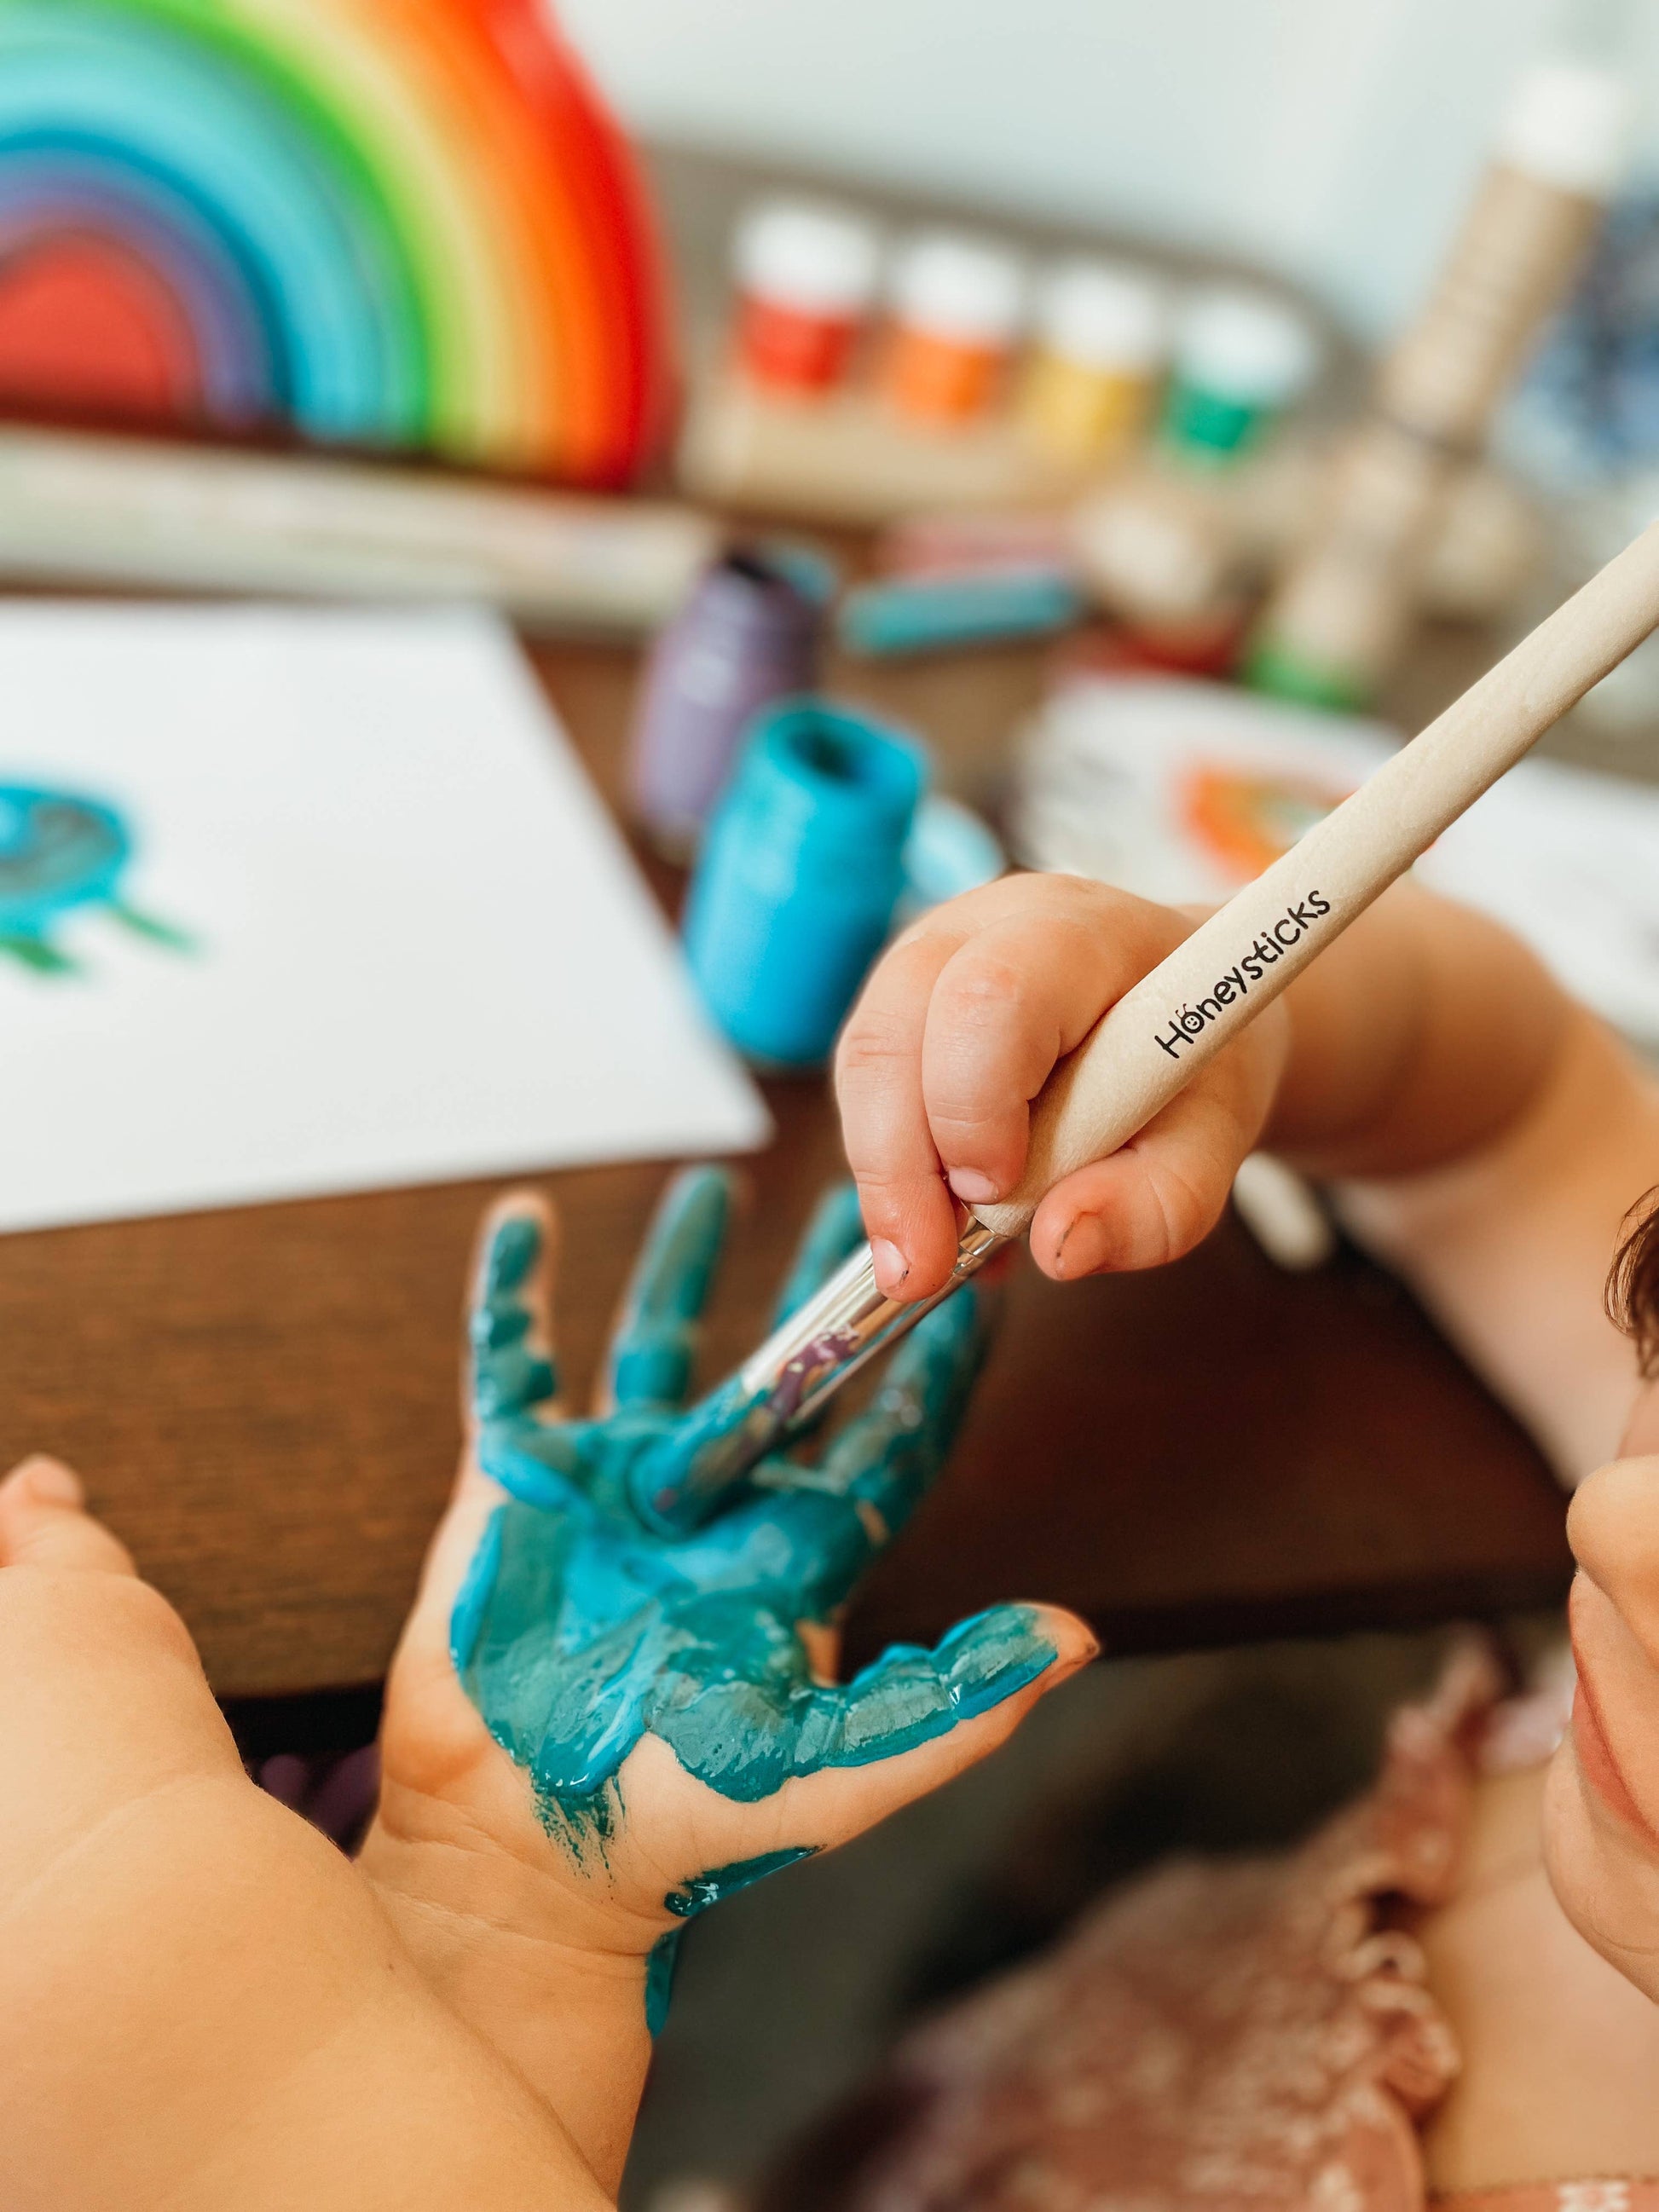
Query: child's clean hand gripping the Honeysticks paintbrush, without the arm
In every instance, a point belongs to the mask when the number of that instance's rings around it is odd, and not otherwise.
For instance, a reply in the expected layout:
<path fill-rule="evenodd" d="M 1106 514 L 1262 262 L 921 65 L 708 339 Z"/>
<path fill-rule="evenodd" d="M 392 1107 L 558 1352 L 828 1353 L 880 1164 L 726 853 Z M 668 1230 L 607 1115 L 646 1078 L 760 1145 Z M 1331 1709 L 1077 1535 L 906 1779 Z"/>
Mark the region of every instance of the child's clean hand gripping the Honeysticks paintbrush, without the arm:
<path fill-rule="evenodd" d="M 1004 876 L 922 916 L 885 953 L 836 1053 L 847 1159 L 889 1298 L 945 1283 L 958 1201 L 1020 1181 L 1051 1068 L 1194 929 L 1194 916 L 1079 876 Z M 1110 1159 L 1060 1181 L 1031 1223 L 1044 1274 L 1157 1267 L 1214 1225 L 1285 1064 L 1270 1006 Z"/>

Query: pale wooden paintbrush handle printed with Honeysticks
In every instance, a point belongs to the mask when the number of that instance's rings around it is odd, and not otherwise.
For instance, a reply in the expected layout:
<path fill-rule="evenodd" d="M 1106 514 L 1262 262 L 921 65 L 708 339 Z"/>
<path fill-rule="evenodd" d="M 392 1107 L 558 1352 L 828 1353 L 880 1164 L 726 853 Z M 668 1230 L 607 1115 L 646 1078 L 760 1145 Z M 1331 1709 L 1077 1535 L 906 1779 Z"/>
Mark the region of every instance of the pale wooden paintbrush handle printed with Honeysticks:
<path fill-rule="evenodd" d="M 1044 1084 L 1020 1188 L 975 1217 L 1020 1237 L 1046 1190 L 1168 1106 L 1657 624 L 1659 522 L 1119 998 Z"/>

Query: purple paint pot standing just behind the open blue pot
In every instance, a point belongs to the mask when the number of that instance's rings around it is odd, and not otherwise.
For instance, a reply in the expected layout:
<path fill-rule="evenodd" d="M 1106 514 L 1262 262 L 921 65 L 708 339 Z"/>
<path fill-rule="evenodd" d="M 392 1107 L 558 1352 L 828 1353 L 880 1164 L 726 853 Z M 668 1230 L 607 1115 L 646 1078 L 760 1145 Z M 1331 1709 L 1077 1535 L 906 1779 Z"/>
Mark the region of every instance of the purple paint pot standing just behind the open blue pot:
<path fill-rule="evenodd" d="M 688 860 L 761 708 L 812 690 L 834 571 L 799 546 L 737 546 L 659 635 L 635 708 L 630 794 L 659 852 Z"/>

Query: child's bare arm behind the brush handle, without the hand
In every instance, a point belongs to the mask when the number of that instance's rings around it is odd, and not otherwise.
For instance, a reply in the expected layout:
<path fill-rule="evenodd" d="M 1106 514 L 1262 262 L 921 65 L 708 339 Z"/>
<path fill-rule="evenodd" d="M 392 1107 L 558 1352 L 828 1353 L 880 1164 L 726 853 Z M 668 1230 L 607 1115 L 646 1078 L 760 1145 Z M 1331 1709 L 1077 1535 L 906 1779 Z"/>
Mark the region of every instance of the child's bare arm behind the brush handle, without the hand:
<path fill-rule="evenodd" d="M 1343 1183 L 1402 1274 L 1575 1482 L 1635 1391 L 1604 1283 L 1659 1183 L 1659 1088 L 1493 922 L 1400 885 L 1287 993 L 1265 1141 Z"/>

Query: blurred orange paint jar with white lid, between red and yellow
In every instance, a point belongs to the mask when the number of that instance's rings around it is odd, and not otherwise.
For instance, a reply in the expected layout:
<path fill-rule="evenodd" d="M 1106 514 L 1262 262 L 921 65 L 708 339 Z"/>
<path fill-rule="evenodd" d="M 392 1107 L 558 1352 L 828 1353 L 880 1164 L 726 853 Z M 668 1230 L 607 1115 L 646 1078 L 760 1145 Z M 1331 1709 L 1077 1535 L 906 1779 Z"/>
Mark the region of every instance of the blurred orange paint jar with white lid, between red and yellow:
<path fill-rule="evenodd" d="M 1000 246 L 925 232 L 894 257 L 880 389 L 914 422 L 962 425 L 1002 394 L 1024 323 L 1020 261 Z"/>

